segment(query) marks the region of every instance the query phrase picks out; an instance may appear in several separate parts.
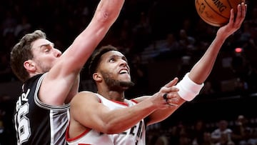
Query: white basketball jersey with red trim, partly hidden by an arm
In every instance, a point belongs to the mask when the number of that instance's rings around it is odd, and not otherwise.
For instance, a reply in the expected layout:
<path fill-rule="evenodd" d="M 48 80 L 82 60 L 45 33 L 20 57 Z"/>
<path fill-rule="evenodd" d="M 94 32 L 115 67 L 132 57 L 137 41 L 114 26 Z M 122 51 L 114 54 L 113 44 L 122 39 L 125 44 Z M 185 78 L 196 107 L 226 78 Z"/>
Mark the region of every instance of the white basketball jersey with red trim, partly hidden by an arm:
<path fill-rule="evenodd" d="M 121 109 L 133 106 L 136 103 L 125 99 L 124 102 L 110 101 L 97 94 L 101 103 L 108 106 L 109 109 Z M 122 122 L 121 122 L 122 124 Z M 119 134 L 103 134 L 94 129 L 86 130 L 81 135 L 74 139 L 67 139 L 69 145 L 78 144 L 94 144 L 94 145 L 145 145 L 146 144 L 146 129 L 143 119 L 139 121 L 131 129 L 128 129 Z"/>

